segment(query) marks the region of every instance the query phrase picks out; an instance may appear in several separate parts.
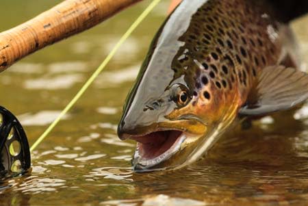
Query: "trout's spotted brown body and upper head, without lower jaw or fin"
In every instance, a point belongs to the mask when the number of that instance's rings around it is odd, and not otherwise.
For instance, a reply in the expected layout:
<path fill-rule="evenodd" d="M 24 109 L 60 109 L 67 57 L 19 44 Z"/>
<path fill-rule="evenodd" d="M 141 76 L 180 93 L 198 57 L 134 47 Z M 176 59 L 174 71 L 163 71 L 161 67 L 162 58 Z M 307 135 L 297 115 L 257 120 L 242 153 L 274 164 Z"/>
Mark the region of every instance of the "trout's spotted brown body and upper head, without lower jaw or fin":
<path fill-rule="evenodd" d="M 207 137 L 224 131 L 246 105 L 264 68 L 296 66 L 290 36 L 266 1 L 184 0 L 151 44 L 118 136 L 157 128 Z M 188 93 L 187 103 L 179 104 L 177 90 Z"/>

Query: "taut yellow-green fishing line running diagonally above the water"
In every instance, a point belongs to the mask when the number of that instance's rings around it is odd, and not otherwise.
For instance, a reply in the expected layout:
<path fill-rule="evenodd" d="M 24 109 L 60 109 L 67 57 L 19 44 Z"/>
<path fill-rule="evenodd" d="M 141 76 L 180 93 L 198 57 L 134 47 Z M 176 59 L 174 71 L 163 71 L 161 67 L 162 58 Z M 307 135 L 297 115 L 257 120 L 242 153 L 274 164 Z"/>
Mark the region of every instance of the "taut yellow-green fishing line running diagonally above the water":
<path fill-rule="evenodd" d="M 61 118 L 68 112 L 68 110 L 70 110 L 70 108 L 73 107 L 73 105 L 75 105 L 75 103 L 78 101 L 78 99 L 80 99 L 82 94 L 84 94 L 84 92 L 86 92 L 86 90 L 91 85 L 91 83 L 94 81 L 94 79 L 97 78 L 97 76 L 101 73 L 101 71 L 105 68 L 105 66 L 110 62 L 112 57 L 114 57 L 114 54 L 116 53 L 116 51 L 118 51 L 120 46 L 125 42 L 125 40 L 127 40 L 127 38 L 129 38 L 131 33 L 133 33 L 133 31 L 135 31 L 135 29 L 138 27 L 138 25 L 140 25 L 140 23 L 142 23 L 144 18 L 146 18 L 146 16 L 148 16 L 148 14 L 153 10 L 153 8 L 155 8 L 155 6 L 157 5 L 157 3 L 159 3 L 159 1 L 161 1 L 161 0 L 153 0 L 150 3 L 150 5 L 144 10 L 144 12 L 142 12 L 142 14 L 140 14 L 140 16 L 138 16 L 136 21 L 133 22 L 133 24 L 129 27 L 129 29 L 127 29 L 125 34 L 123 34 L 123 36 L 120 38 L 120 40 L 116 43 L 116 46 L 114 46 L 112 51 L 110 51 L 110 53 L 107 55 L 105 60 L 103 60 L 103 62 L 97 68 L 97 70 L 95 70 L 94 73 L 91 75 L 91 77 L 88 79 L 88 81 L 86 81 L 84 86 L 81 87 L 79 92 L 77 92 L 77 94 L 74 96 L 74 98 L 68 103 L 68 105 L 66 105 L 66 107 L 64 108 L 64 110 L 62 110 L 62 112 L 59 114 L 59 116 L 57 116 L 57 118 L 55 120 L 53 120 L 53 123 L 51 123 L 51 125 L 49 125 L 49 127 L 44 131 L 44 133 L 42 133 L 42 135 L 38 138 L 38 140 L 36 140 L 36 142 L 34 142 L 34 144 L 30 148 L 30 152 L 32 152 L 32 151 L 34 151 L 34 149 L 36 149 L 38 144 L 40 144 L 40 142 L 42 142 L 42 140 L 44 140 L 44 138 L 46 138 L 48 136 L 48 134 L 55 128 L 57 123 L 60 122 Z"/>

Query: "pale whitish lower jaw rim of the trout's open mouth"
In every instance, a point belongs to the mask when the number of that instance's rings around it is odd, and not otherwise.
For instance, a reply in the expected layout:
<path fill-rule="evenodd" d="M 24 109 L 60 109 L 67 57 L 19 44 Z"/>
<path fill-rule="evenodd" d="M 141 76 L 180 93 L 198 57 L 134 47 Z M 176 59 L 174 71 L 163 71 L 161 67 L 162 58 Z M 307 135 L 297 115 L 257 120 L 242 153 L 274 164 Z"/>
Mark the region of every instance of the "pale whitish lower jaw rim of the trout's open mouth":
<path fill-rule="evenodd" d="M 136 151 L 133 155 L 133 168 L 137 172 L 146 172 L 146 171 L 151 171 L 151 170 L 164 170 L 164 168 L 159 168 L 159 169 L 151 169 L 154 166 L 157 166 L 158 164 L 166 161 L 172 155 L 177 153 L 178 151 L 181 150 L 181 144 L 185 142 L 185 140 L 188 138 L 187 134 L 184 132 L 181 132 L 179 137 L 177 137 L 177 140 L 170 146 L 169 149 L 164 151 L 164 153 L 155 156 L 153 158 L 146 157 L 146 155 L 142 155 L 142 152 L 140 152 L 140 149 L 142 149 L 142 143 L 138 142 L 136 146 Z"/>

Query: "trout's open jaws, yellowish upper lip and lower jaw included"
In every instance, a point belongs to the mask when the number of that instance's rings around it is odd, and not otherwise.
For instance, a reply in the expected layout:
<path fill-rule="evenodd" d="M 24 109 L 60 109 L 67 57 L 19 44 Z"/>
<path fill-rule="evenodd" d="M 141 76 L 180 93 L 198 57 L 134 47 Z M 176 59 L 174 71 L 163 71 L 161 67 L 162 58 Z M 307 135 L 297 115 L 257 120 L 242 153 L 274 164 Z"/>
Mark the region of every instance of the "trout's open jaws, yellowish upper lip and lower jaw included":
<path fill-rule="evenodd" d="M 206 131 L 207 126 L 199 120 L 173 120 L 136 127 L 131 132 L 123 131 L 119 137 L 137 142 L 132 159 L 133 169 L 147 172 L 182 164 L 185 157 L 181 153 L 189 153 L 186 147 L 204 136 Z"/>

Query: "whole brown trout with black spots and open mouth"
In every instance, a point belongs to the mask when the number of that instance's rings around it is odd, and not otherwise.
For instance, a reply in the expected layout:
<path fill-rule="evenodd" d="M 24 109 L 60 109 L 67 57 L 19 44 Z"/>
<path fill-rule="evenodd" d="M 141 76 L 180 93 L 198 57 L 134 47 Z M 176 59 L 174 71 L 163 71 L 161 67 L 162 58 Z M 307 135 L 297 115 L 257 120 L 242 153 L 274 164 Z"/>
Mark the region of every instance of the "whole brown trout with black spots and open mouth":
<path fill-rule="evenodd" d="M 184 0 L 155 36 L 118 125 L 137 171 L 180 168 L 243 118 L 308 98 L 292 32 L 268 1 Z"/>

